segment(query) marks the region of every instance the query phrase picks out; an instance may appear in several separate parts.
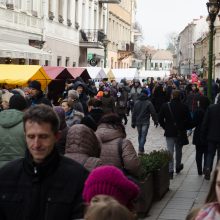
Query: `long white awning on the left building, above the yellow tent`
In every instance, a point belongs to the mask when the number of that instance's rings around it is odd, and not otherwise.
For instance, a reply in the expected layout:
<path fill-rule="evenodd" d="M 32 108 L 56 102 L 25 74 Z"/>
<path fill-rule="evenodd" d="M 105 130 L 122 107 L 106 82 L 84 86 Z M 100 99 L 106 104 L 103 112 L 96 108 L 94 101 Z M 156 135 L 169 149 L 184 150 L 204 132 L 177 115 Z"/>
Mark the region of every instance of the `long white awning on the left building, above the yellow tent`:
<path fill-rule="evenodd" d="M 0 42 L 0 57 L 51 60 L 52 56 L 43 50 L 27 44 Z"/>

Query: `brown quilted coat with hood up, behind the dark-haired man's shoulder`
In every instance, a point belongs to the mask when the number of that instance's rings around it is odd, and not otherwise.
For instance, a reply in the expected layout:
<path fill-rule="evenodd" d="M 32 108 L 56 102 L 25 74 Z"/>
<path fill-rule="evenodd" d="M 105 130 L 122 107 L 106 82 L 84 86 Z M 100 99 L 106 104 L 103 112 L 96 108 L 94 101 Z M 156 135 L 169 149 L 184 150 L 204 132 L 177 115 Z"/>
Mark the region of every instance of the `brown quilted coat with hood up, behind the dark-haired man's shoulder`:
<path fill-rule="evenodd" d="M 65 156 L 77 161 L 87 170 L 102 165 L 99 158 L 101 143 L 94 131 L 83 124 L 76 124 L 69 128 L 66 137 Z"/>

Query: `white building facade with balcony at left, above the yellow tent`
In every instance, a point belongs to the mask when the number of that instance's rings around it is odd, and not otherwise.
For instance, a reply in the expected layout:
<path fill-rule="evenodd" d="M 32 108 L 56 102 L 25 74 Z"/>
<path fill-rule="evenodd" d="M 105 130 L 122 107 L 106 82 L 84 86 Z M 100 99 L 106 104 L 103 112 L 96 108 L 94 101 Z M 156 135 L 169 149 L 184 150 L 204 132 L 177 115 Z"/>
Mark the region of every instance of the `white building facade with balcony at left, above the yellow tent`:
<path fill-rule="evenodd" d="M 87 66 L 88 48 L 103 57 L 106 23 L 98 0 L 0 0 L 1 63 Z"/>

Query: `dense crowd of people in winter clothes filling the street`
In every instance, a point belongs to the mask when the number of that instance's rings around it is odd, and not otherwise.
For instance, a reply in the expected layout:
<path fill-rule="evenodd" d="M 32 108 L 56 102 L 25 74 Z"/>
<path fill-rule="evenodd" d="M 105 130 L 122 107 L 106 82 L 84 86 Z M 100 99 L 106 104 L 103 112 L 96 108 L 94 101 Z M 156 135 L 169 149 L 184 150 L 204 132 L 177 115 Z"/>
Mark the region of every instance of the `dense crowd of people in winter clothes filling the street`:
<path fill-rule="evenodd" d="M 132 202 L 140 190 L 133 180 L 142 172 L 138 155 L 145 153 L 151 118 L 164 129 L 172 158 L 175 152 L 170 179 L 184 169 L 182 147 L 195 128 L 198 175 L 209 180 L 216 151 L 220 155 L 220 102 L 209 106 L 206 91 L 206 82 L 195 77 L 103 81 L 99 88 L 68 80 L 54 106 L 37 80 L 25 90 L 2 89 L 0 219 L 70 220 L 84 212 L 88 220 L 107 219 L 106 213 L 135 219 Z M 137 127 L 138 152 L 125 126 Z"/>

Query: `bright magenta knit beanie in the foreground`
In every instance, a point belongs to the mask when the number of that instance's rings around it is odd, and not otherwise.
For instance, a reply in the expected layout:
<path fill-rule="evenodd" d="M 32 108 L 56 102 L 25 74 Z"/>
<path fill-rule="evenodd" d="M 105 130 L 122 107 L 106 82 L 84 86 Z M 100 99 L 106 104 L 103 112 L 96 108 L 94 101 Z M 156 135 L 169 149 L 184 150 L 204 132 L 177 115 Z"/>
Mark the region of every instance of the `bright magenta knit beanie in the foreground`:
<path fill-rule="evenodd" d="M 138 193 L 138 186 L 120 169 L 114 166 L 101 166 L 89 174 L 83 189 L 83 199 L 90 203 L 96 195 L 108 195 L 130 208 Z"/>

